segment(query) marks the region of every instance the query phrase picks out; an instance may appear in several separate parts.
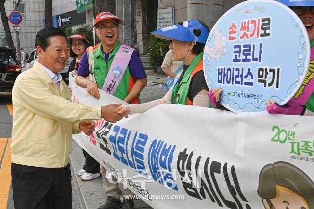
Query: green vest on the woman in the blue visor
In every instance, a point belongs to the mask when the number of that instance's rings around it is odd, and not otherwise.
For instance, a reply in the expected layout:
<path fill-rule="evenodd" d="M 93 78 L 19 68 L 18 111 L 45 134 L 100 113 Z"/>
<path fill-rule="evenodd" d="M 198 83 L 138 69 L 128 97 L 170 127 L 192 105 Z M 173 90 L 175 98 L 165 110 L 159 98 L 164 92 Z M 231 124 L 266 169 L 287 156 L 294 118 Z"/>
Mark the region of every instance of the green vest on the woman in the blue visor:
<path fill-rule="evenodd" d="M 203 58 L 203 54 L 198 54 L 191 62 L 190 66 L 188 66 L 185 71 L 182 80 L 177 82 L 172 89 L 171 94 L 171 103 L 172 104 L 187 104 L 187 92 L 191 83 L 191 73 L 193 72 L 196 65 Z"/>

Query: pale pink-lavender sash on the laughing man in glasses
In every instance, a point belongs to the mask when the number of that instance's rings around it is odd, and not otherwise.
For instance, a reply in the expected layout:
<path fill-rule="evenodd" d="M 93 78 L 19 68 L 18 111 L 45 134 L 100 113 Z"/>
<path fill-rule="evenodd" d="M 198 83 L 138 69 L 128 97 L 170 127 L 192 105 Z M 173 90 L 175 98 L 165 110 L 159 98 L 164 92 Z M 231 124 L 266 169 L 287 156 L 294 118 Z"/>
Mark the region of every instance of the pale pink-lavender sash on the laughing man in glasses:
<path fill-rule="evenodd" d="M 133 53 L 133 48 L 122 44 L 116 53 L 102 90 L 113 95 L 116 91 Z"/>

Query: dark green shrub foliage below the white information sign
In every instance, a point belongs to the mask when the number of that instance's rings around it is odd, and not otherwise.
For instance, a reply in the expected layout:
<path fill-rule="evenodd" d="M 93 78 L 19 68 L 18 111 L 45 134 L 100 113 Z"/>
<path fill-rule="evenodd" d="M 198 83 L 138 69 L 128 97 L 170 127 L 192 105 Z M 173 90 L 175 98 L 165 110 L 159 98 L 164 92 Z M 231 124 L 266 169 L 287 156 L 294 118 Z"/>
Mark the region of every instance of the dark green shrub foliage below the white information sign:
<path fill-rule="evenodd" d="M 162 64 L 164 56 L 169 50 L 170 41 L 157 38 L 153 35 L 150 35 L 148 41 L 148 50 L 149 50 L 149 64 L 153 67 L 158 67 Z M 160 54 L 160 48 L 162 48 L 163 56 Z"/>

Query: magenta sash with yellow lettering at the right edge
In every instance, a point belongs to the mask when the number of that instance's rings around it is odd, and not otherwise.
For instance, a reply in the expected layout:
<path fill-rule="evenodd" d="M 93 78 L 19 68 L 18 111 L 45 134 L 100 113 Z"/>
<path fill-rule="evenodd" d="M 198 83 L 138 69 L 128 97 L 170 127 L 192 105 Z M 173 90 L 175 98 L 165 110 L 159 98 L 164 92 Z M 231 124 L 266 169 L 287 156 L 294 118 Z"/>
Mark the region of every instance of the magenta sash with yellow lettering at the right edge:
<path fill-rule="evenodd" d="M 311 94 L 314 91 L 314 46 L 311 47 L 311 59 L 309 69 L 302 82 L 302 86 L 291 100 L 296 100 L 297 103 L 305 105 Z"/>

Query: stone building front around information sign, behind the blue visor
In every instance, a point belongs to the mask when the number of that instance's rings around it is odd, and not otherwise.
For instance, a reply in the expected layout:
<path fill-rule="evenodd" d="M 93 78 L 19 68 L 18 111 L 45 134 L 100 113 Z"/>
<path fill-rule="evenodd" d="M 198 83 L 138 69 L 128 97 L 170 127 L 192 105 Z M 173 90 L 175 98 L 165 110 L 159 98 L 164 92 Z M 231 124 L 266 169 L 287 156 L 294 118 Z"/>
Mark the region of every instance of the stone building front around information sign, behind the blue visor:
<path fill-rule="evenodd" d="M 149 34 L 157 29 L 157 8 L 173 8 L 173 24 L 198 19 L 210 29 L 226 11 L 243 1 L 245 0 L 136 0 L 136 47 L 140 54 L 148 53 Z"/>

